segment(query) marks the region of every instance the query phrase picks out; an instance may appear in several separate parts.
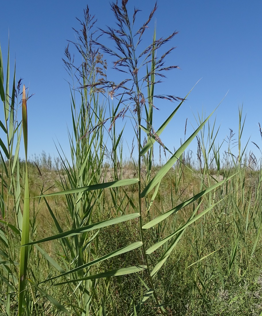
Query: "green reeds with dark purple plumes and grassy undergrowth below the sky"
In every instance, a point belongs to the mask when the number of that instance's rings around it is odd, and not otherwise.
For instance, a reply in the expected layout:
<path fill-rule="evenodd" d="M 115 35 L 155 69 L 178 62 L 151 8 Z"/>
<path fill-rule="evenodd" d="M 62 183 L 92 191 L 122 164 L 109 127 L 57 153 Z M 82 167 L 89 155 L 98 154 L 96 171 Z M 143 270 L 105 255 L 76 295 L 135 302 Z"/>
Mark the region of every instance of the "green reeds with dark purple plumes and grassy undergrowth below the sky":
<path fill-rule="evenodd" d="M 63 60 L 72 77 L 71 157 L 59 149 L 54 163 L 44 152 L 27 157 L 28 96 L 24 87 L 20 122 L 21 80 L 14 75 L 9 89 L 0 50 L 1 315 L 262 315 L 261 165 L 241 144 L 241 109 L 223 155 L 211 115 L 190 137 L 181 131 L 175 152 L 164 146 L 160 134 L 184 98 L 154 94 L 158 77 L 177 68 L 164 65 L 172 48 L 156 55 L 176 33 L 157 40 L 154 32 L 140 48 L 155 10 L 137 28 L 138 10 L 129 20 L 127 0 L 113 3 L 116 29 L 102 33 L 115 48 L 95 38 L 84 10 L 73 43 L 82 62 L 69 46 Z M 121 82 L 108 80 L 102 51 L 125 74 Z M 179 103 L 157 131 L 155 98 Z M 129 161 L 118 128 L 126 116 L 138 144 Z M 194 161 L 186 150 L 196 137 Z M 153 159 L 158 146 L 166 163 Z"/>

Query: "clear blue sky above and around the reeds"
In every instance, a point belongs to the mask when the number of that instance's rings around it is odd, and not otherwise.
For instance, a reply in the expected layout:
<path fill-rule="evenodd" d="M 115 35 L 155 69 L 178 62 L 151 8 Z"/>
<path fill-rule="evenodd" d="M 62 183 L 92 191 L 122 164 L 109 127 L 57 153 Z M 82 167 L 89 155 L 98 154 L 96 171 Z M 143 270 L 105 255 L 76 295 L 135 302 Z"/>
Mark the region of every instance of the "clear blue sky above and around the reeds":
<path fill-rule="evenodd" d="M 74 3 L 68 0 L 9 0 L 1 4 L 0 43 L 4 65 L 9 37 L 10 62 L 16 59 L 16 78 L 22 77 L 29 92 L 35 94 L 28 101 L 29 155 L 39 154 L 42 150 L 57 155 L 54 145 L 57 140 L 69 154 L 70 94 L 62 58 L 67 40 L 75 39 L 72 27 L 80 27 L 75 17 L 83 19 L 86 4 L 91 14 L 96 15 L 98 27 L 114 26 L 114 16 L 107 0 Z M 129 0 L 132 15 L 134 6 L 142 10 L 138 20 L 143 23 L 154 1 Z M 194 115 L 202 111 L 209 114 L 228 90 L 215 113 L 217 123 L 221 125 L 219 142 L 229 135 L 229 128 L 237 134 L 238 107 L 243 103 L 243 113 L 247 114 L 243 143 L 251 137 L 250 141 L 262 147 L 258 128 L 258 122 L 262 123 L 261 14 L 261 1 L 158 1 L 155 14 L 157 37 L 179 31 L 166 45 L 166 48 L 177 47 L 166 64 L 181 68 L 167 74 L 165 82 L 158 86 L 158 93 L 184 97 L 202 78 L 169 129 L 162 134 L 161 139 L 167 147 L 178 147 L 186 118 L 189 136 L 193 131 L 189 128 L 190 123 L 196 126 Z M 150 40 L 154 21 L 145 33 Z M 154 123 L 155 129 L 176 104 L 158 101 L 157 106 L 160 111 Z M 132 139 L 128 140 L 129 144 L 131 142 Z M 260 153 L 252 143 L 248 148 L 259 158 Z M 196 146 L 192 150 L 195 153 Z"/>

